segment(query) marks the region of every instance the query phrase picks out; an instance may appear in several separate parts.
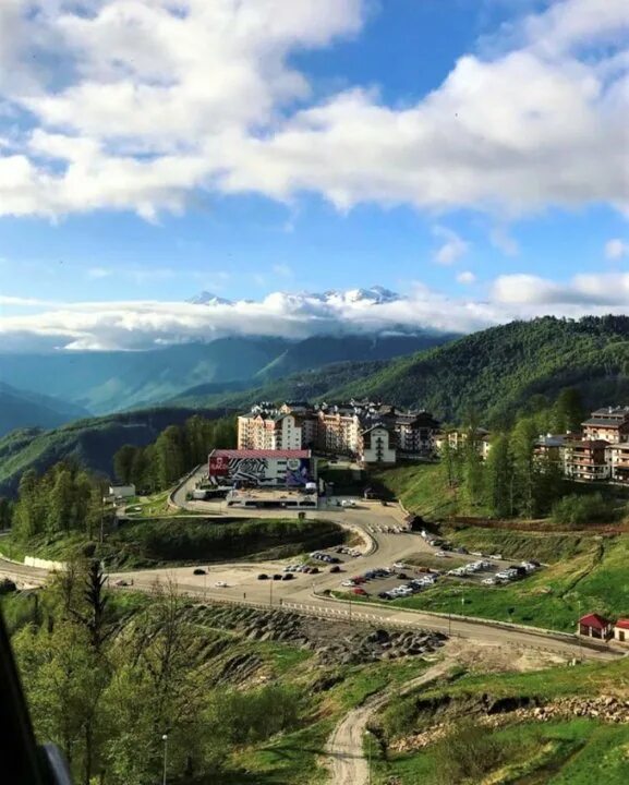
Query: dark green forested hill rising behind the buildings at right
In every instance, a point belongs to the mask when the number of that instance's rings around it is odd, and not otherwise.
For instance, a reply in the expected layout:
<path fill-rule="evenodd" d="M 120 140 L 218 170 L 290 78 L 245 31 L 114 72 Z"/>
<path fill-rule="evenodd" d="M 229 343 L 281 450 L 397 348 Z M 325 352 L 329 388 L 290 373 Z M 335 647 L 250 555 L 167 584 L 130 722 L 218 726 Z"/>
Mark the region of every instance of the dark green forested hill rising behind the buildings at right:
<path fill-rule="evenodd" d="M 380 398 L 460 421 L 472 409 L 489 424 L 525 409 L 532 396 L 577 387 L 588 406 L 629 398 L 629 318 L 553 316 L 512 322 L 392 361 L 335 397 Z"/>

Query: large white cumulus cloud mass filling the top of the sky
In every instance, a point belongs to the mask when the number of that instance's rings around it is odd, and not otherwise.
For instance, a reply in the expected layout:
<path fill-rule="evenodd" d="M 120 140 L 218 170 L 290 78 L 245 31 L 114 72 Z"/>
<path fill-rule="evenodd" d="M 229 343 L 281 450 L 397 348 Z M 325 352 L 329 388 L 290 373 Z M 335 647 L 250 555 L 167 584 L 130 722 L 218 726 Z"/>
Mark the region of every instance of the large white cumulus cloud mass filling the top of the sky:
<path fill-rule="evenodd" d="M 359 86 L 314 102 L 291 55 L 356 35 L 366 4 L 3 0 L 0 215 L 154 220 L 199 189 L 315 192 L 339 209 L 629 210 L 626 0 L 529 14 L 407 106 Z"/>

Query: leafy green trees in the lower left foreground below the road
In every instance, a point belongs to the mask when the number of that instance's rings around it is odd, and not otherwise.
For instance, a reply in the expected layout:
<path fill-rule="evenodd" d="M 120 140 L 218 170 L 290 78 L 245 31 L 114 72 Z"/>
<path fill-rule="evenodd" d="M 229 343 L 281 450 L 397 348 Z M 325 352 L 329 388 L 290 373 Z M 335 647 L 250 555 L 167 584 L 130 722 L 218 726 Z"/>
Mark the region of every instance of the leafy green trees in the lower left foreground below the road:
<path fill-rule="evenodd" d="M 222 651 L 172 583 L 114 597 L 97 560 L 73 561 L 13 618 L 13 648 L 38 739 L 57 744 L 77 785 L 205 782 L 234 745 L 294 728 L 290 687 L 217 684 Z M 116 600 L 116 602 L 114 602 Z"/>

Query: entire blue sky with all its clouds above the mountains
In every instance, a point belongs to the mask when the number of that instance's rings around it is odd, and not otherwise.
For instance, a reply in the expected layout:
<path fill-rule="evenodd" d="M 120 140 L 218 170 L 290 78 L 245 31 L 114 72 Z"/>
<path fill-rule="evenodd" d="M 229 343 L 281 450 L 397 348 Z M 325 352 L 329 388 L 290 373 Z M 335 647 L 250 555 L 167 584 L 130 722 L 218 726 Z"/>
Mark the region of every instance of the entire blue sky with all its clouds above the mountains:
<path fill-rule="evenodd" d="M 629 313 L 628 219 L 627 0 L 0 2 L 0 350 Z"/>

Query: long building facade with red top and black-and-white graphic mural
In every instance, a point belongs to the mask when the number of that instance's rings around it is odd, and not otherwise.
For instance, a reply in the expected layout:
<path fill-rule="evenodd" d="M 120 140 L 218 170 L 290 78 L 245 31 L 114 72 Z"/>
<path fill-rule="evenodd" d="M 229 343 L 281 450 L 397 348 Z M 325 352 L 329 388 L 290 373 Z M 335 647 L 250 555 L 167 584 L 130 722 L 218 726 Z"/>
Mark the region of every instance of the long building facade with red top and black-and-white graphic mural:
<path fill-rule="evenodd" d="M 310 450 L 214 450 L 208 459 L 215 485 L 305 487 L 315 479 Z"/>

